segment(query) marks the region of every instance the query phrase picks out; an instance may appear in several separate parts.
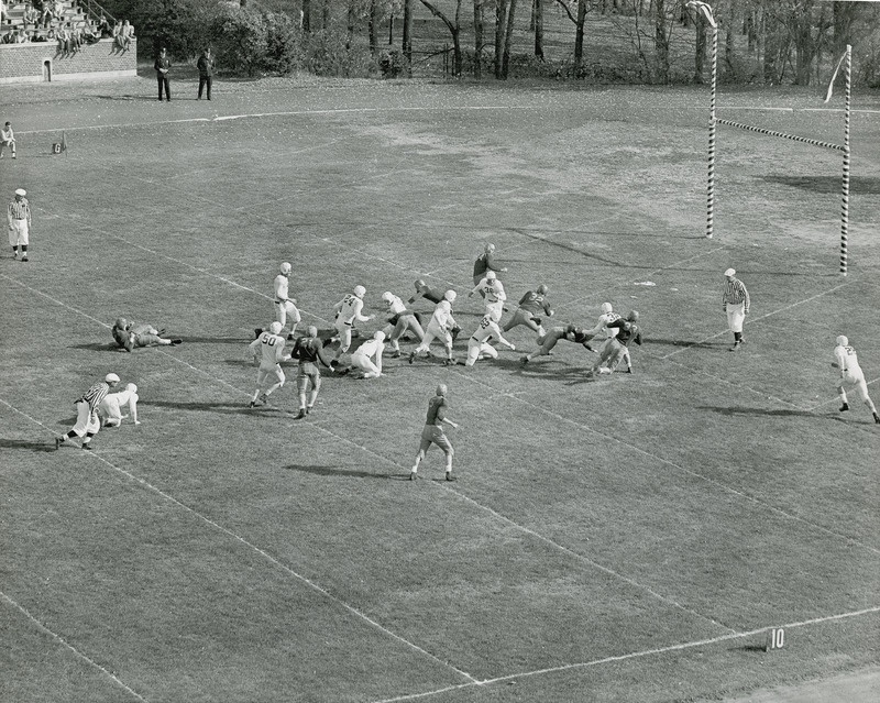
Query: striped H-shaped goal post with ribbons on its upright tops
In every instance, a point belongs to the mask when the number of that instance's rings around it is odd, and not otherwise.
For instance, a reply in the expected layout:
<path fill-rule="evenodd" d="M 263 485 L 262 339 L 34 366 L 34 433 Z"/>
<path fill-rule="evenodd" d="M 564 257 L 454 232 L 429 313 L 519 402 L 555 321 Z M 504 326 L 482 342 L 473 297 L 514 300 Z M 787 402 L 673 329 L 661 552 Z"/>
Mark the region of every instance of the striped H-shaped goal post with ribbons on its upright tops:
<path fill-rule="evenodd" d="M 718 83 L 718 23 L 715 21 L 715 18 L 712 13 L 712 7 L 706 2 L 702 2 L 701 0 L 691 0 L 686 3 L 686 7 L 695 10 L 696 12 L 701 12 L 705 17 L 708 25 L 712 28 L 712 81 L 708 112 L 708 169 L 706 174 L 706 238 L 713 238 L 715 226 L 715 142 L 718 124 L 726 124 L 727 127 L 734 127 L 749 132 L 757 132 L 758 134 L 763 134 L 765 136 L 781 136 L 782 139 L 792 140 L 802 144 L 809 144 L 811 146 L 820 146 L 822 149 L 839 151 L 843 153 L 844 161 L 844 175 L 840 184 L 840 274 L 846 276 L 848 266 L 847 245 L 849 241 L 849 128 L 853 96 L 853 47 L 847 44 L 846 54 L 844 54 L 844 56 L 840 58 L 839 63 L 837 64 L 837 68 L 834 70 L 831 85 L 828 86 L 828 95 L 825 98 L 825 102 L 831 99 L 834 81 L 837 78 L 840 67 L 843 66 L 846 77 L 843 144 L 833 144 L 831 142 L 798 136 L 795 134 L 785 134 L 784 132 L 767 130 L 751 124 L 743 124 L 740 122 L 721 119 L 716 114 Z"/>

